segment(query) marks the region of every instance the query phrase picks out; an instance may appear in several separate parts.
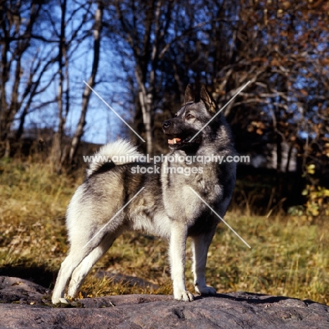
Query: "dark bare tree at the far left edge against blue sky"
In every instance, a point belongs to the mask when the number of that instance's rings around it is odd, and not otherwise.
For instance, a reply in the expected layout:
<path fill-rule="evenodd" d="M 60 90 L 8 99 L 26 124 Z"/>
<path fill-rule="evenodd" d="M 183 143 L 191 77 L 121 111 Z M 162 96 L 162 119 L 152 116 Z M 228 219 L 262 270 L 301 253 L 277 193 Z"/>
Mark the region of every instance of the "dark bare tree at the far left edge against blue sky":
<path fill-rule="evenodd" d="M 34 96 L 42 91 L 38 89 L 41 77 L 51 63 L 41 51 L 37 51 L 34 58 L 28 52 L 44 6 L 46 3 L 34 0 L 1 1 L 0 4 L 0 156 L 9 155 L 13 120 L 22 110 L 16 134 L 16 138 L 20 138 Z"/>

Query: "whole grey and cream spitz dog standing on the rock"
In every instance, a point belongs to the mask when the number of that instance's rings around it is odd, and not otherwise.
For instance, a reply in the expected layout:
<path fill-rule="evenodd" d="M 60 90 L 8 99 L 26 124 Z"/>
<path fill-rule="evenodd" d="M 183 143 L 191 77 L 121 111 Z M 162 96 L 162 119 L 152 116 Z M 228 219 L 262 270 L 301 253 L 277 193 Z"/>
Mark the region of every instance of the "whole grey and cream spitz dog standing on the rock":
<path fill-rule="evenodd" d="M 197 95 L 188 86 L 183 107 L 176 117 L 162 124 L 164 134 L 169 138 L 169 155 L 234 155 L 231 132 L 221 114 L 189 142 L 217 110 L 205 86 L 201 86 Z M 97 155 L 138 157 L 141 153 L 131 143 L 120 140 L 103 146 Z M 165 160 L 161 174 L 134 174 L 132 168 L 137 164 L 112 161 L 93 162 L 89 166 L 84 183 L 77 188 L 67 207 L 70 252 L 60 266 L 53 303 L 65 302 L 63 297 L 69 279 L 67 295 L 75 297 L 93 264 L 110 248 L 115 238 L 127 230 L 143 231 L 169 240 L 174 298 L 183 301 L 194 298 L 186 290 L 184 275 L 186 238 L 190 236 L 195 292 L 202 295 L 216 293 L 205 283 L 205 266 L 219 219 L 205 202 L 224 217 L 236 182 L 236 164 L 186 164 Z M 154 164 L 140 165 L 153 167 Z M 202 170 L 189 176 L 170 174 L 168 169 L 181 166 L 202 167 Z M 134 200 L 124 207 L 132 198 Z M 117 214 L 122 207 L 124 209 Z"/>

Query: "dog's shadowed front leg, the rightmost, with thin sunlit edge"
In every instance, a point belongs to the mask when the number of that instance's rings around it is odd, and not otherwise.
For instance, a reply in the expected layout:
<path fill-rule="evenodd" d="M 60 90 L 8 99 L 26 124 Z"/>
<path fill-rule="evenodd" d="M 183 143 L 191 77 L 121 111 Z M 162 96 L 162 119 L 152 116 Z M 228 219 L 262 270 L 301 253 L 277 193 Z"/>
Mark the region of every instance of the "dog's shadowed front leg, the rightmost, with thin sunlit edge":
<path fill-rule="evenodd" d="M 195 292 L 200 295 L 215 295 L 216 290 L 205 283 L 205 267 L 207 263 L 207 253 L 212 242 L 214 230 L 207 234 L 192 237 L 193 252 L 193 275 Z"/>

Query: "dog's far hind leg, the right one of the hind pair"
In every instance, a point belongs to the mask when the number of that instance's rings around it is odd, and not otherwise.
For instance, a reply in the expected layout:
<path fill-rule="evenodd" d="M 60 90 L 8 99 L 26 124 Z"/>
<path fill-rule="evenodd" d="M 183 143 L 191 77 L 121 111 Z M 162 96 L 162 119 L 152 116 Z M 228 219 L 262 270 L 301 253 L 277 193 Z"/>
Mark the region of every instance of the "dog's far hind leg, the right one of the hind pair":
<path fill-rule="evenodd" d="M 105 252 L 111 247 L 115 238 L 120 234 L 110 233 L 103 238 L 101 243 L 88 255 L 82 262 L 77 266 L 75 271 L 73 271 L 72 278 L 70 280 L 69 288 L 67 291 L 68 297 L 75 297 L 79 288 L 82 285 L 84 278 L 89 273 L 94 264 L 100 259 Z"/>

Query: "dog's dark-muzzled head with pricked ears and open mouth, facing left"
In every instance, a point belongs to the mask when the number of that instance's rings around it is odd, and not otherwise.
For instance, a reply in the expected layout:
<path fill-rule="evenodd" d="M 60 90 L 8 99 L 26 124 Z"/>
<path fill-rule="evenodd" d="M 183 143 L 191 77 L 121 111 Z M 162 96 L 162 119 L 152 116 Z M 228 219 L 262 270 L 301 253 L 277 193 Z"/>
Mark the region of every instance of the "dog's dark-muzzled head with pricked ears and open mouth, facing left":
<path fill-rule="evenodd" d="M 172 150 L 197 150 L 206 134 L 211 134 L 211 126 L 215 122 L 211 122 L 206 127 L 205 124 L 216 113 L 217 105 L 207 92 L 205 85 L 202 84 L 200 92 L 195 93 L 188 84 L 184 105 L 178 110 L 175 117 L 162 122 L 162 129 L 168 138 L 169 148 Z M 198 135 L 195 136 L 195 134 Z M 193 138 L 192 141 L 191 138 Z"/>

